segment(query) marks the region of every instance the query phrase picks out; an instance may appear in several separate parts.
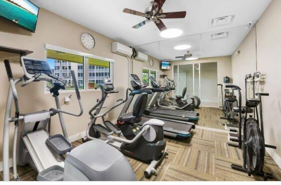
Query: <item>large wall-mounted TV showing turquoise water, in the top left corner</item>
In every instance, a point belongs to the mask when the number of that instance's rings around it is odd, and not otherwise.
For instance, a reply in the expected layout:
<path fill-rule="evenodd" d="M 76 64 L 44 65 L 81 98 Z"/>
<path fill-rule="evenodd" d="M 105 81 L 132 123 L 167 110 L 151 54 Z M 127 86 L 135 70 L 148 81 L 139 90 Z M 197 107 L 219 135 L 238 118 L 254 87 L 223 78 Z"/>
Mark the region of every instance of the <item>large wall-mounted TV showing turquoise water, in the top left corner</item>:
<path fill-rule="evenodd" d="M 35 32 L 39 7 L 29 0 L 0 0 L 0 16 Z"/>

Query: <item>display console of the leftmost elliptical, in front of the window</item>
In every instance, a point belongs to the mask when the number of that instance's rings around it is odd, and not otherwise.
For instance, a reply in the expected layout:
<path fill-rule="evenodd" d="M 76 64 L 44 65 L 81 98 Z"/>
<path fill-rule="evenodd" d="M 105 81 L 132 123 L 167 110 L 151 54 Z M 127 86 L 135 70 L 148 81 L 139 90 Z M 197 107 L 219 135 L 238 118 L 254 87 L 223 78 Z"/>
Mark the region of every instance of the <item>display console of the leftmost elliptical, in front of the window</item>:
<path fill-rule="evenodd" d="M 40 73 L 40 79 L 50 79 L 48 75 L 52 74 L 52 70 L 46 61 L 34 60 L 27 57 L 21 57 L 21 65 L 25 76 L 31 79 L 34 75 Z"/>

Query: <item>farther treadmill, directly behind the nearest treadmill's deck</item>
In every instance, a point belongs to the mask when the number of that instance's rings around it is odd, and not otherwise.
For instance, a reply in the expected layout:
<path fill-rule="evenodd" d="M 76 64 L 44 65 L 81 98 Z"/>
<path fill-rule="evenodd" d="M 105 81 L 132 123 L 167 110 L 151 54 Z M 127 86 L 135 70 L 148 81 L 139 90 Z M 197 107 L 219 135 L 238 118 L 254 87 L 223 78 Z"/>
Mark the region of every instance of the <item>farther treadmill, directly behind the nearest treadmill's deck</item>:
<path fill-rule="evenodd" d="M 149 77 L 151 80 L 151 85 L 153 88 L 161 88 L 159 83 L 156 81 L 156 79 L 153 76 Z M 165 91 L 170 91 L 167 88 L 163 88 Z M 150 95 L 148 102 L 147 102 L 147 108 L 144 112 L 145 115 L 148 116 L 157 116 L 157 117 L 163 117 L 163 118 L 171 118 L 175 120 L 181 120 L 181 121 L 192 121 L 196 122 L 198 121 L 198 112 L 193 111 L 185 111 L 185 110 L 175 110 L 173 108 L 169 107 L 156 107 L 156 103 L 158 101 L 158 98 L 163 92 L 155 92 L 154 98 Z M 152 100 L 151 100 L 152 99 Z M 150 103 L 151 101 L 151 103 Z"/>

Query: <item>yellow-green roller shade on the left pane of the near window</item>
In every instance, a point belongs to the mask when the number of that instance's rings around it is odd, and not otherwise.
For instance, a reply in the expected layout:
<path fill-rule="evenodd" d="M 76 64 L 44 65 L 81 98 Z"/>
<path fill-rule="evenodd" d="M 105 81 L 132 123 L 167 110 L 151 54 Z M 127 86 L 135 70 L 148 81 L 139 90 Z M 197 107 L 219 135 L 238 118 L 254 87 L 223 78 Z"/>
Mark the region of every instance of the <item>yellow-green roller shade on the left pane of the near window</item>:
<path fill-rule="evenodd" d="M 47 58 L 83 64 L 83 56 L 47 49 Z"/>

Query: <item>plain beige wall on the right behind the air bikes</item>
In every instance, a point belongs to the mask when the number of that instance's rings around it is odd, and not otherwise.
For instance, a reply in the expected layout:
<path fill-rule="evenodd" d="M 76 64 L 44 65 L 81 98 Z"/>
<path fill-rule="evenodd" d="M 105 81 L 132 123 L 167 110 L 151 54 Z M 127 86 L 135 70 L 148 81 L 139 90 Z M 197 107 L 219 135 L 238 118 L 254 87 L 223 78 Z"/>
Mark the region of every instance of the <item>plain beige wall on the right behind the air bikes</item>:
<path fill-rule="evenodd" d="M 265 140 L 276 145 L 277 150 L 270 150 L 271 155 L 281 165 L 281 0 L 273 0 L 256 24 L 257 55 L 255 28 L 248 34 L 238 50 L 240 56 L 232 56 L 233 78 L 243 87 L 245 74 L 260 71 L 267 75 L 263 92 Z M 257 63 L 256 63 L 257 59 Z M 243 94 L 244 95 L 244 94 Z M 277 154 L 279 157 L 277 157 Z"/>

